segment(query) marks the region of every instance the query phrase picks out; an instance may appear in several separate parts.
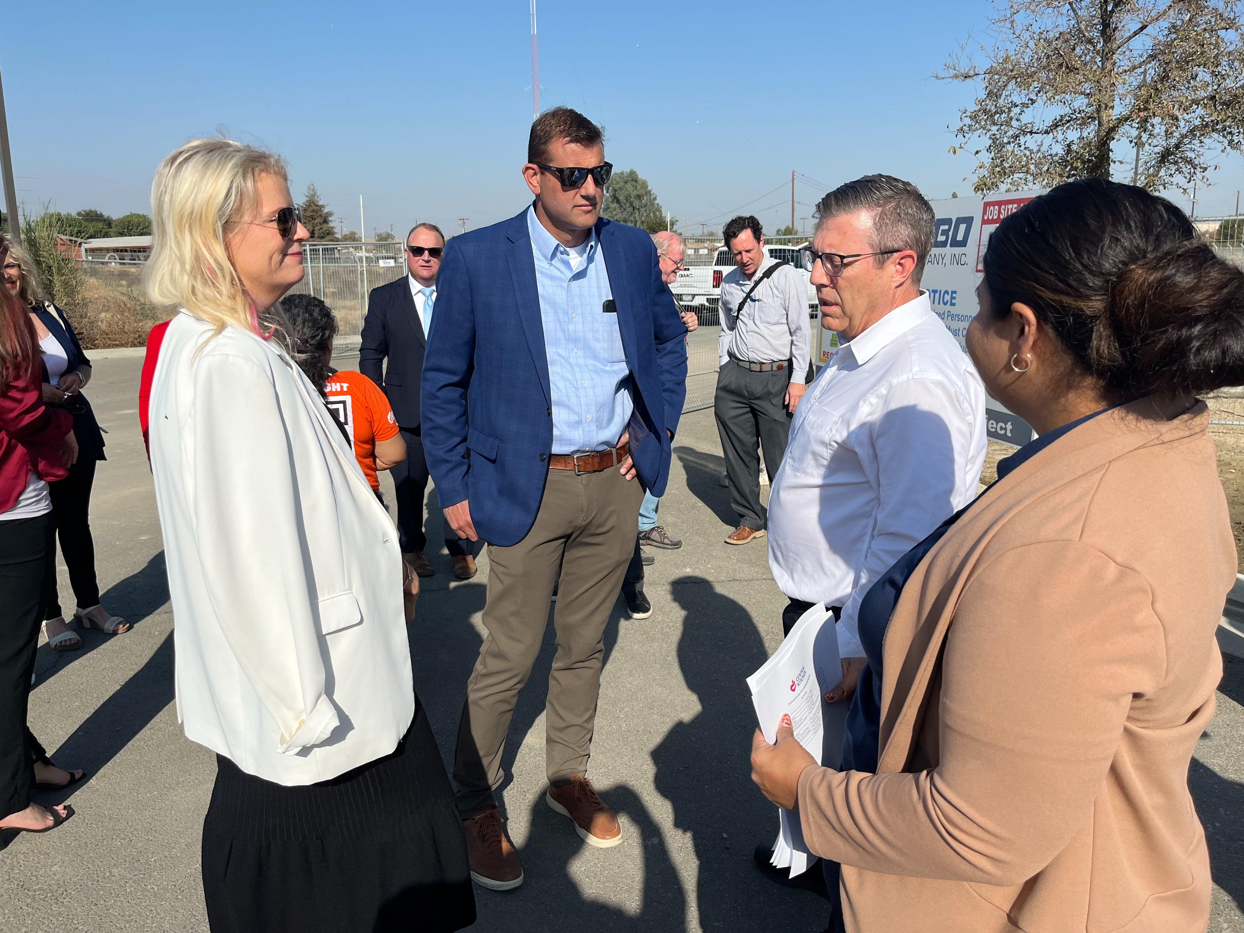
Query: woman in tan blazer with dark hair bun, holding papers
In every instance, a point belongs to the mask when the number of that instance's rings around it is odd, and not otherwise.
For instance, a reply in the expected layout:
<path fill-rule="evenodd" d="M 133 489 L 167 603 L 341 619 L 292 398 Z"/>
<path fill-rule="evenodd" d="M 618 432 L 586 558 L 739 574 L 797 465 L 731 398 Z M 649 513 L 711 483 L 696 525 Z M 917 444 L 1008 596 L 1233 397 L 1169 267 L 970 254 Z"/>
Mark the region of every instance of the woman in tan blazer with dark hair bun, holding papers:
<path fill-rule="evenodd" d="M 984 269 L 968 351 L 1040 437 L 866 600 L 876 774 L 782 729 L 753 778 L 841 863 L 838 928 L 1204 931 L 1187 775 L 1235 547 L 1195 394 L 1244 384 L 1244 272 L 1102 179 L 1005 219 Z"/>

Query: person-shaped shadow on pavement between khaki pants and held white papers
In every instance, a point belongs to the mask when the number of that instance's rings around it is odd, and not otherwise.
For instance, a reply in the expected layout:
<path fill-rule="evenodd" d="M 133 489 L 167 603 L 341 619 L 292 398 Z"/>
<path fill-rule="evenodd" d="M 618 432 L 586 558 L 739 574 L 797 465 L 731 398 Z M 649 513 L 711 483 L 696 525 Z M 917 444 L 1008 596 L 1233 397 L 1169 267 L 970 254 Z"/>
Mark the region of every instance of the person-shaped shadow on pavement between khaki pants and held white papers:
<path fill-rule="evenodd" d="M 751 861 L 778 830 L 748 765 L 755 713 L 746 677 L 768 652 L 751 615 L 704 577 L 679 577 L 672 590 L 685 612 L 678 662 L 700 713 L 653 750 L 657 791 L 673 805 L 674 825 L 692 833 L 700 928 L 760 929 L 769 898 L 802 896 L 774 888 Z"/>

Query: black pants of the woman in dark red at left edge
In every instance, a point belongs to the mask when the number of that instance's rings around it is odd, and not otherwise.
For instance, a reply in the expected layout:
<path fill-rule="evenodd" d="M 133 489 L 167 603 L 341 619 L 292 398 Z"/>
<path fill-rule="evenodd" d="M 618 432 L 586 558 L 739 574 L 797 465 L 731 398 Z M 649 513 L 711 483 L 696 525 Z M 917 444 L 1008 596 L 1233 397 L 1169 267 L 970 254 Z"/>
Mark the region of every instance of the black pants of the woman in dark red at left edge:
<path fill-rule="evenodd" d="M 55 535 L 52 513 L 0 521 L 0 816 L 30 805 L 35 780 L 37 743 L 26 729 L 26 712 Z"/>

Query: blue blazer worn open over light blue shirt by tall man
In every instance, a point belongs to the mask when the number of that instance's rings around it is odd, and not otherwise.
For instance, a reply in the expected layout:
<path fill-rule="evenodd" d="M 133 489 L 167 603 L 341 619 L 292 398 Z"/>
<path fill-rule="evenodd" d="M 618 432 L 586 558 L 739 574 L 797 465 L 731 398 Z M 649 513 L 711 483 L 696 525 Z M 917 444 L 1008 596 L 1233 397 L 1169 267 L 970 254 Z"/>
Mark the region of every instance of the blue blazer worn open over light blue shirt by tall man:
<path fill-rule="evenodd" d="M 632 374 L 631 457 L 638 481 L 661 495 L 687 396 L 687 327 L 661 280 L 652 238 L 605 219 L 596 235 Z M 535 522 L 552 453 L 549 358 L 526 210 L 449 240 L 437 296 L 423 366 L 428 468 L 442 508 L 469 499 L 479 536 L 514 545 Z"/>

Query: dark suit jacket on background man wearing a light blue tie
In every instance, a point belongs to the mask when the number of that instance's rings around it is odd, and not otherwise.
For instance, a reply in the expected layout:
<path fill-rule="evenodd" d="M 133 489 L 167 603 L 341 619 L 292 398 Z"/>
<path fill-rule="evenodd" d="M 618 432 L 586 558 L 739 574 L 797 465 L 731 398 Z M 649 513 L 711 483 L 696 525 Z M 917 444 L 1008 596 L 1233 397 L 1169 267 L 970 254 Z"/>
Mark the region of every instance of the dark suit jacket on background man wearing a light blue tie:
<path fill-rule="evenodd" d="M 438 291 L 439 295 L 439 291 Z M 440 312 L 440 302 L 432 317 Z M 388 396 L 398 427 L 419 433 L 419 379 L 423 376 L 423 351 L 427 337 L 411 295 L 411 277 L 372 289 L 367 296 L 358 371 Z M 388 371 L 382 373 L 384 357 Z"/>

